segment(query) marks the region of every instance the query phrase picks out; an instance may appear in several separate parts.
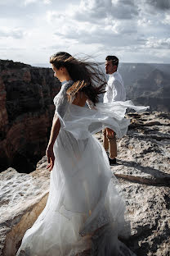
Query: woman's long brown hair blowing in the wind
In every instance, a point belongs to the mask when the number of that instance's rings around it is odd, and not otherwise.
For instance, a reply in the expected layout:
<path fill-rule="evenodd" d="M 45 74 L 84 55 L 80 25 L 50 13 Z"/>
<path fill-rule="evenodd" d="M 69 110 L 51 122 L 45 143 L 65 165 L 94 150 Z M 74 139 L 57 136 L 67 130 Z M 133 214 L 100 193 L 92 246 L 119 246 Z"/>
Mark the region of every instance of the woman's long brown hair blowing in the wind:
<path fill-rule="evenodd" d="M 87 57 L 78 59 L 65 52 L 52 55 L 50 57 L 50 63 L 56 69 L 64 66 L 74 81 L 74 84 L 67 90 L 69 100 L 78 91 L 81 91 L 96 105 L 99 102 L 99 95 L 105 93 L 105 74 L 99 63 L 87 62 Z"/>

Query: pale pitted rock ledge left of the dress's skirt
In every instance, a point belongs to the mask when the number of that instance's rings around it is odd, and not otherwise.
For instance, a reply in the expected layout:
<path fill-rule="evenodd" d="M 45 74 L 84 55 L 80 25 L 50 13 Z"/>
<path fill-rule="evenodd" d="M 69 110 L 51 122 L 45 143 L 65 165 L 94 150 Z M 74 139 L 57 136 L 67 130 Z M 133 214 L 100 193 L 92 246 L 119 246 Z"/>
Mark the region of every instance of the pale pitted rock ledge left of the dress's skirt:
<path fill-rule="evenodd" d="M 45 207 L 50 183 L 46 167 L 45 157 L 30 174 L 13 168 L 0 173 L 0 255 L 16 255 L 25 231 Z"/>

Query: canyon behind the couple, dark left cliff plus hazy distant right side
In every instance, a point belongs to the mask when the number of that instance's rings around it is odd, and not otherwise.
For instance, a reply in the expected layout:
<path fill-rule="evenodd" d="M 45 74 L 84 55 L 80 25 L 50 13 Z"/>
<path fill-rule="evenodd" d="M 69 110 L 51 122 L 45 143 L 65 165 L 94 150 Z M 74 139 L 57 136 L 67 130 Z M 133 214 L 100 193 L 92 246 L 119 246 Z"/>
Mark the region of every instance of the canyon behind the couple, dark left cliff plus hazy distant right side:
<path fill-rule="evenodd" d="M 169 64 L 120 63 L 127 99 L 170 112 L 169 70 Z M 47 148 L 59 90 L 51 68 L 0 60 L 0 171 L 35 170 Z"/>

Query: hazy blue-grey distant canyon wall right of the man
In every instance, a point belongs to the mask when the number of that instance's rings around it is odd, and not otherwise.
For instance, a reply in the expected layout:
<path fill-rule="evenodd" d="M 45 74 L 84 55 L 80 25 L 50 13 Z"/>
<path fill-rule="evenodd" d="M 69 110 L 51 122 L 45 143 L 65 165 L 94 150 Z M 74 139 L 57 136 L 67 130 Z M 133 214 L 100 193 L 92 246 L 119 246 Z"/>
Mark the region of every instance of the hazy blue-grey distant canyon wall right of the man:
<path fill-rule="evenodd" d="M 170 112 L 170 64 L 121 63 L 127 98 L 150 105 L 151 111 Z"/>

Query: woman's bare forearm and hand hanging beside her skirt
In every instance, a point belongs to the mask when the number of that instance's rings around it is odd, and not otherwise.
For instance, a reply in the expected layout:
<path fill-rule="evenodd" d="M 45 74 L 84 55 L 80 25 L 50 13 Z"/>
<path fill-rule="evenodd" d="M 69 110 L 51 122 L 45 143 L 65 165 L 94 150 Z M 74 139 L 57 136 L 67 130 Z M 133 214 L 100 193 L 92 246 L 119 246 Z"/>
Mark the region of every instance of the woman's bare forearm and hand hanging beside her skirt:
<path fill-rule="evenodd" d="M 47 161 L 49 163 L 47 165 L 48 171 L 51 171 L 54 166 L 55 156 L 54 156 L 53 146 L 56 141 L 56 137 L 59 134 L 59 131 L 60 131 L 60 119 L 54 116 L 52 121 L 52 126 L 51 126 L 51 135 L 50 135 L 50 139 L 49 139 L 47 150 L 46 150 Z"/>

